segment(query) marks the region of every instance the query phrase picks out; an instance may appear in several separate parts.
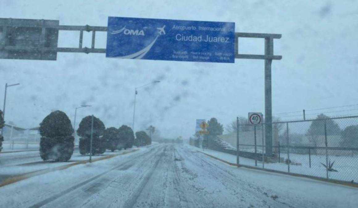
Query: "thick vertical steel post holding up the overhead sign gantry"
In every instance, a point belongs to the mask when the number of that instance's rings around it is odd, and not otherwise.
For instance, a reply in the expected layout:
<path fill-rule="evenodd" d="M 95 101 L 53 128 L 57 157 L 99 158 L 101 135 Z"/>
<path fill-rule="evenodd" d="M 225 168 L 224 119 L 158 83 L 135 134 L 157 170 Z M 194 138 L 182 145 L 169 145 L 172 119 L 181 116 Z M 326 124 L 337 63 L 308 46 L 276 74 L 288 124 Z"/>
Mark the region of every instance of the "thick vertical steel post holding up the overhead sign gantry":
<path fill-rule="evenodd" d="M 265 38 L 265 55 L 274 55 L 274 41 L 272 37 Z M 272 59 L 265 59 L 265 142 L 267 157 L 272 157 L 271 64 Z"/>

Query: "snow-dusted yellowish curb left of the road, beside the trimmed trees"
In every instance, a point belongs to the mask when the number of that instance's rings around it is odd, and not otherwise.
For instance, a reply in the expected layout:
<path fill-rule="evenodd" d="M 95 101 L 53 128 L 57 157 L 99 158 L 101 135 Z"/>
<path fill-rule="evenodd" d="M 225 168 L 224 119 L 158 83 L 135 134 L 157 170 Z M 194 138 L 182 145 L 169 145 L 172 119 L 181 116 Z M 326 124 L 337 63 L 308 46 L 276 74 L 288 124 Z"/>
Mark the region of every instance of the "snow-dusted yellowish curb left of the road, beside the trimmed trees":
<path fill-rule="evenodd" d="M 139 149 L 133 149 L 133 150 L 129 150 L 127 152 L 121 152 L 121 153 L 118 153 L 118 154 L 107 155 L 105 157 L 100 157 L 100 158 L 93 159 L 92 162 L 97 162 L 97 161 L 100 161 L 100 160 L 110 159 L 110 158 L 116 157 L 118 155 L 124 155 L 124 154 L 128 154 L 128 153 L 136 152 L 138 150 Z M 0 183 L 0 187 L 3 187 L 5 185 L 9 185 L 9 184 L 12 184 L 12 183 L 15 183 L 15 182 L 19 182 L 21 180 L 25 180 L 25 179 L 28 179 L 28 178 L 31 178 L 31 177 L 34 177 L 34 176 L 37 176 L 37 175 L 42 175 L 42 174 L 53 172 L 53 171 L 56 171 L 56 170 L 64 170 L 64 169 L 70 168 L 72 166 L 79 165 L 79 164 L 86 164 L 88 162 L 89 162 L 89 160 L 82 160 L 82 161 L 79 161 L 79 162 L 74 162 L 74 163 L 71 163 L 71 164 L 62 165 L 62 166 L 55 167 L 55 168 L 48 168 L 48 169 L 43 169 L 43 170 L 36 170 L 36 171 L 30 172 L 30 173 L 24 173 L 24 174 L 21 174 L 21 175 L 17 175 L 17 176 L 5 179 L 2 183 Z"/>

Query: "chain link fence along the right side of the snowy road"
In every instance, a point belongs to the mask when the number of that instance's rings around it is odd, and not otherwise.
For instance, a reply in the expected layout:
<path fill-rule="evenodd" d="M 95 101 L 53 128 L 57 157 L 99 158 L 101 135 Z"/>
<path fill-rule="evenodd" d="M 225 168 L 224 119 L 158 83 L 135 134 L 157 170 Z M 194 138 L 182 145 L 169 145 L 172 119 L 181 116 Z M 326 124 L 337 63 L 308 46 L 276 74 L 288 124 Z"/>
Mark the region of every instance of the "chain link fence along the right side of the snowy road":
<path fill-rule="evenodd" d="M 272 146 L 266 145 L 268 125 Z M 237 127 L 238 137 L 209 137 L 208 148 L 238 155 L 239 165 L 358 183 L 358 116 Z"/>

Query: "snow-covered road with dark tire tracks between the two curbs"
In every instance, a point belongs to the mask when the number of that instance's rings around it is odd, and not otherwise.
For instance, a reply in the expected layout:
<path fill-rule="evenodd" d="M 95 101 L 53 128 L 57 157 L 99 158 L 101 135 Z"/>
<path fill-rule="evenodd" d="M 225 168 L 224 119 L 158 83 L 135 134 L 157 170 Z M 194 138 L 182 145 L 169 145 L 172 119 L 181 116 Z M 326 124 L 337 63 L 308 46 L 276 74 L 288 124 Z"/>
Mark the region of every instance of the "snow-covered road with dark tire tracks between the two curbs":
<path fill-rule="evenodd" d="M 358 189 L 157 144 L 0 188 L 0 207 L 358 207 Z"/>

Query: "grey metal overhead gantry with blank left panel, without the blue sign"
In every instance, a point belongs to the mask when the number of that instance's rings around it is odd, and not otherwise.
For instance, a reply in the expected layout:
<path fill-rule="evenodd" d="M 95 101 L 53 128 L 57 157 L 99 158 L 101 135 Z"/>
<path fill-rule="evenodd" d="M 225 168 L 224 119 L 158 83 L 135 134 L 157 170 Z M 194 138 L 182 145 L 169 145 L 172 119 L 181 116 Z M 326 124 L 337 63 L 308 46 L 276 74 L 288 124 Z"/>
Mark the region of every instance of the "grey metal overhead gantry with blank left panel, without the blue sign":
<path fill-rule="evenodd" d="M 78 48 L 57 47 L 58 31 L 79 31 Z M 92 32 L 91 48 L 82 47 L 83 32 Z M 106 26 L 73 26 L 59 25 L 59 20 L 29 20 L 0 18 L 0 59 L 35 59 L 56 60 L 57 52 L 64 53 L 106 53 L 105 48 L 95 47 L 96 32 L 106 32 Z M 265 39 L 265 53 L 240 54 L 240 38 Z M 272 154 L 272 99 L 271 99 L 271 65 L 272 60 L 282 59 L 274 55 L 274 39 L 281 34 L 267 33 L 235 33 L 236 59 L 265 60 L 265 138 L 266 154 Z"/>

